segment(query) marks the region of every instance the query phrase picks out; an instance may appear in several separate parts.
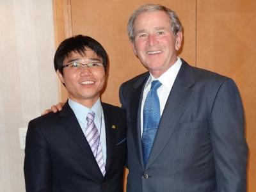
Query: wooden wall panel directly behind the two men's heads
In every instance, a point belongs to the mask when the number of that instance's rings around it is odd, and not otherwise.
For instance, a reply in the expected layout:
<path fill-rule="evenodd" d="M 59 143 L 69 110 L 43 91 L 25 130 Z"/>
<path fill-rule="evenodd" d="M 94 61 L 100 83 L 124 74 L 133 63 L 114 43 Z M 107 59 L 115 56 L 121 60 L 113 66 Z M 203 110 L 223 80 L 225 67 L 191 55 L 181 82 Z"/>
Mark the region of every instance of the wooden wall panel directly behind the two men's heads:
<path fill-rule="evenodd" d="M 108 85 L 102 100 L 119 105 L 120 84 L 146 69 L 134 56 L 126 33 L 126 24 L 132 12 L 142 4 L 161 3 L 175 10 L 185 28 L 186 42 L 181 54 L 195 65 L 195 1 L 104 1 L 76 0 L 71 2 L 72 34 L 89 35 L 98 40 L 109 54 Z"/>

